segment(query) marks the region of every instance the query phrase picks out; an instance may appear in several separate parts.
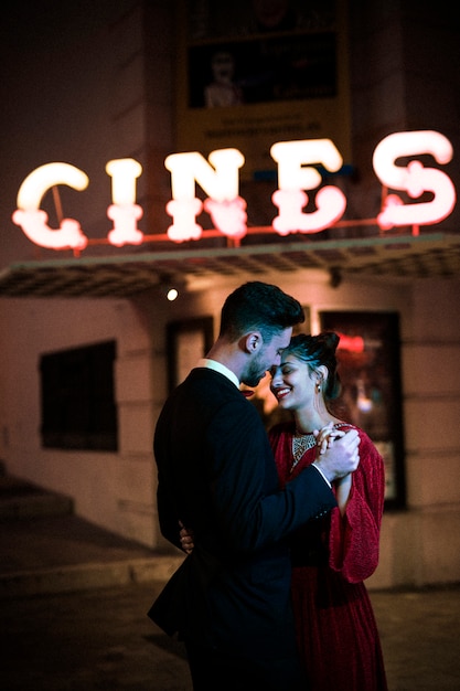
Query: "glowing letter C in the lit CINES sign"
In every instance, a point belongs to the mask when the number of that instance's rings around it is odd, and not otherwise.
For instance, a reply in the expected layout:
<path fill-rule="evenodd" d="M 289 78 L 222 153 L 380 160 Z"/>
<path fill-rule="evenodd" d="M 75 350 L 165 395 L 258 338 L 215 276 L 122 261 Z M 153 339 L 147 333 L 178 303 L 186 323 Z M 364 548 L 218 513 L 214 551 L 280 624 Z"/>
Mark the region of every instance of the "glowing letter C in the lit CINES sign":
<path fill-rule="evenodd" d="M 45 193 L 56 184 L 67 184 L 81 191 L 87 188 L 88 182 L 88 177 L 69 163 L 45 163 L 36 168 L 19 189 L 13 223 L 20 225 L 29 240 L 41 247 L 84 249 L 88 238 L 82 233 L 78 221 L 63 219 L 58 230 L 53 230 L 47 225 L 47 213 L 40 209 L 40 204 Z"/>

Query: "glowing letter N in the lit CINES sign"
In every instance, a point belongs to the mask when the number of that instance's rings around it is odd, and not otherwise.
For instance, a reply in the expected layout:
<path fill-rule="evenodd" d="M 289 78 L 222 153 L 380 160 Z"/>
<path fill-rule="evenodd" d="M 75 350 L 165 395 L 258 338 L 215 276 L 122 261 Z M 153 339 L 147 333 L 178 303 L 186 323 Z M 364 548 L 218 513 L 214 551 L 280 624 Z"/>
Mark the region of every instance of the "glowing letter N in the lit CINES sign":
<path fill-rule="evenodd" d="M 238 170 L 244 164 L 237 149 L 212 151 L 210 163 L 197 151 L 172 153 L 164 161 L 171 172 L 172 201 L 167 212 L 173 219 L 168 237 L 175 242 L 199 240 L 203 228 L 195 219 L 203 210 L 210 213 L 217 230 L 228 237 L 243 237 L 247 231 L 246 202 L 238 196 Z M 204 204 L 195 196 L 195 182 L 210 195 Z"/>

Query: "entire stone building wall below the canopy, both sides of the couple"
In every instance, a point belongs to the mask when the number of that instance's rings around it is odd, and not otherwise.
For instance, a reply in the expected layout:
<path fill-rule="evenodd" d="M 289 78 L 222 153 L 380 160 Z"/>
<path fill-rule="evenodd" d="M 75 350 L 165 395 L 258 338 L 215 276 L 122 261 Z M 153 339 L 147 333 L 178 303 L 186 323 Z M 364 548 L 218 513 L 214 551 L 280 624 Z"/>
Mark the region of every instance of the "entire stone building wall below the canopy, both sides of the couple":
<path fill-rule="evenodd" d="M 386 281 L 363 289 L 360 281 L 346 279 L 333 289 L 322 272 L 267 279 L 309 305 L 313 329 L 315 315 L 328 309 L 400 313 L 407 509 L 385 513 L 381 564 L 368 583 L 388 587 L 458 581 L 460 538 L 452 528 L 460 518 L 459 281 L 422 280 L 402 290 Z M 0 454 L 7 468 L 72 496 L 79 515 L 149 546 L 165 548 L 156 518 L 151 450 L 167 395 L 165 325 L 211 315 L 216 329 L 221 304 L 238 283 L 227 280 L 173 304 L 158 295 L 136 301 L 0 301 L 1 321 L 11 326 L 2 362 L 20 363 L 2 372 L 8 406 Z M 110 338 L 117 341 L 118 454 L 43 449 L 40 354 Z"/>

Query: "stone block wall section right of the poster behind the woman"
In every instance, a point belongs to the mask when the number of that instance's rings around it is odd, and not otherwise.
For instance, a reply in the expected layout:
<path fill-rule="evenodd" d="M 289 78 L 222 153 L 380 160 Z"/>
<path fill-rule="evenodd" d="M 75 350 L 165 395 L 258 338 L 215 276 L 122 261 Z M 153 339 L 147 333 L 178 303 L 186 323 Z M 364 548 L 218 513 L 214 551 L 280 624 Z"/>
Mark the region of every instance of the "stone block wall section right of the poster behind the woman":
<path fill-rule="evenodd" d="M 402 319 L 407 509 L 386 514 L 370 585 L 460 578 L 459 280 L 424 279 L 405 291 Z"/>

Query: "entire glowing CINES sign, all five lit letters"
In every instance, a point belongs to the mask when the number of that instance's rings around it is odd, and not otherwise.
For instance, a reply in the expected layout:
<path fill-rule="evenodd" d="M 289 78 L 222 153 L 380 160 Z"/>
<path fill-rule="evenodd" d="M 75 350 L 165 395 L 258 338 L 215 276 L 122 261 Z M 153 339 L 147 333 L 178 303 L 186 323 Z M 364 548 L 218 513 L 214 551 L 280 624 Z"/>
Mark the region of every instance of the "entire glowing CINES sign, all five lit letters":
<path fill-rule="evenodd" d="M 445 164 L 452 159 L 453 150 L 443 135 L 432 130 L 388 135 L 375 148 L 373 168 L 385 188 L 406 192 L 411 199 L 418 199 L 425 192 L 432 194 L 431 201 L 409 204 L 405 204 L 396 193 L 387 194 L 381 213 L 374 220 L 382 231 L 394 226 L 439 223 L 452 212 L 456 190 L 445 172 L 426 168 L 417 159 L 407 166 L 396 164 L 398 158 L 424 153 Z M 315 210 L 303 211 L 309 202 L 306 191 L 318 189 L 322 182 L 318 167 L 336 172 L 343 166 L 334 143 L 330 139 L 279 141 L 271 147 L 270 155 L 278 163 L 279 185 L 271 196 L 278 209 L 278 215 L 272 221 L 274 231 L 279 235 L 310 234 L 339 224 L 346 209 L 346 199 L 334 185 L 319 189 L 314 198 Z M 196 151 L 169 156 L 164 166 L 171 172 L 172 199 L 167 204 L 167 212 L 172 217 L 172 224 L 167 231 L 167 238 L 175 243 L 200 240 L 204 231 L 196 223 L 196 216 L 202 211 L 210 214 L 218 233 L 234 241 L 244 237 L 248 232 L 246 201 L 238 194 L 238 171 L 244 162 L 245 158 L 237 149 L 212 151 L 208 160 Z M 107 216 L 114 222 L 108 243 L 117 247 L 139 245 L 146 241 L 137 225 L 142 209 L 136 204 L 136 180 L 142 168 L 133 159 L 117 159 L 107 163 L 106 172 L 111 178 L 114 202 L 107 209 Z M 84 249 L 90 241 L 78 221 L 62 219 L 58 228 L 53 230 L 40 204 L 54 185 L 66 184 L 82 191 L 88 182 L 87 176 L 69 163 L 47 163 L 36 168 L 20 187 L 13 222 L 42 247 Z M 196 183 L 208 195 L 204 202 L 195 196 Z M 154 238 L 158 236 L 149 236 L 149 241 Z"/>

